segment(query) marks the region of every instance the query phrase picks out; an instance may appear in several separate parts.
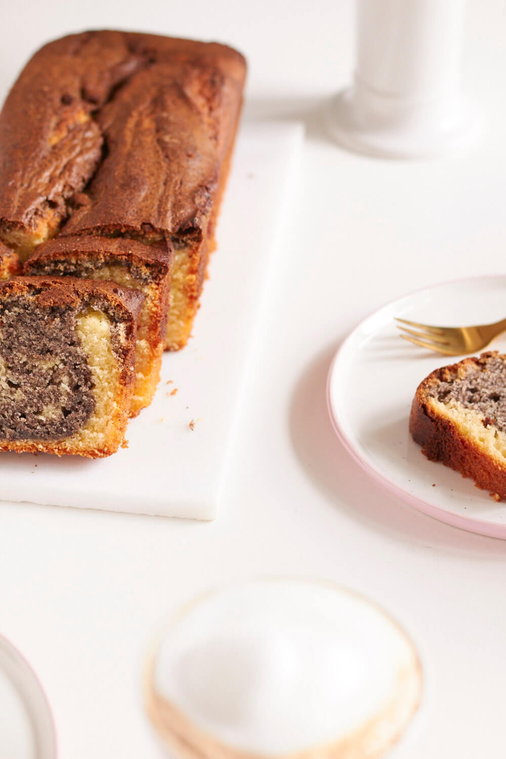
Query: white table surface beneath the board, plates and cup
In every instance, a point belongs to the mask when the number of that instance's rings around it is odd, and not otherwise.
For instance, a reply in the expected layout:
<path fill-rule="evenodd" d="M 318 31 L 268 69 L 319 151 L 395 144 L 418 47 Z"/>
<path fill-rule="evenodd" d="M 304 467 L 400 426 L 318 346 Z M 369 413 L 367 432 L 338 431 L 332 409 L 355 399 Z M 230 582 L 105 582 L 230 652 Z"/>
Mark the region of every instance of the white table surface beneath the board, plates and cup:
<path fill-rule="evenodd" d="M 218 519 L 0 504 L 0 631 L 45 685 L 61 759 L 159 757 L 139 689 L 153 632 L 188 597 L 258 574 L 339 581 L 411 631 L 429 688 L 409 759 L 504 756 L 506 543 L 368 480 L 325 408 L 332 354 L 367 313 L 432 282 L 504 272 L 506 6 L 470 5 L 465 80 L 489 133 L 459 158 L 396 163 L 345 153 L 322 131 L 319 109 L 350 77 L 350 0 L 3 0 L 2 91 L 45 39 L 129 27 L 234 44 L 250 60 L 246 118 L 307 124 Z"/>

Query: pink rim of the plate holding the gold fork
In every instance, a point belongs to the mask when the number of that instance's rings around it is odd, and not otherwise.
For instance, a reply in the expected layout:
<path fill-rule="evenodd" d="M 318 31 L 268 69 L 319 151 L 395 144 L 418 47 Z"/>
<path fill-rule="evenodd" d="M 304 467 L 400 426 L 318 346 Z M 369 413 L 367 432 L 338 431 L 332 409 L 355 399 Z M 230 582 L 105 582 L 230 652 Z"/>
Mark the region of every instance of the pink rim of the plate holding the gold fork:
<path fill-rule="evenodd" d="M 405 502 L 413 506 L 413 508 L 417 509 L 420 512 L 423 512 L 423 514 L 426 514 L 429 517 L 437 519 L 438 521 L 445 522 L 445 524 L 450 524 L 451 527 L 457 527 L 457 528 L 460 528 L 460 530 L 473 532 L 479 535 L 485 535 L 486 537 L 495 537 L 495 538 L 498 538 L 499 540 L 506 540 L 506 524 L 504 525 L 491 524 L 490 522 L 484 521 L 482 519 L 476 519 L 474 517 L 468 517 L 468 516 L 465 516 L 465 517 L 459 516 L 457 514 L 454 514 L 453 512 L 448 512 L 445 509 L 442 509 L 440 506 L 435 506 L 430 501 L 426 501 L 422 498 L 418 498 L 417 496 L 413 496 L 412 493 L 409 493 L 407 490 L 404 490 L 404 488 L 394 483 L 388 477 L 385 477 L 385 474 L 382 474 L 382 472 L 379 471 L 379 469 L 372 466 L 372 464 L 370 464 L 369 461 L 363 458 L 363 456 L 360 453 L 360 450 L 357 448 L 357 446 L 354 445 L 353 440 L 349 436 L 347 436 L 347 433 L 345 433 L 344 429 L 341 427 L 338 414 L 335 412 L 335 409 L 332 405 L 332 391 L 331 391 L 332 378 L 335 373 L 335 365 L 338 363 L 338 360 L 341 356 L 341 351 L 343 351 L 344 348 L 346 348 L 348 342 L 350 342 L 350 340 L 354 337 L 355 333 L 358 332 L 358 330 L 363 326 L 363 324 L 366 323 L 366 321 L 369 320 L 376 313 L 379 313 L 379 311 L 382 311 L 384 308 L 388 308 L 388 306 L 394 305 L 395 303 L 403 300 L 404 298 L 409 298 L 410 295 L 415 295 L 426 290 L 432 290 L 435 287 L 444 286 L 444 285 L 456 285 L 459 282 L 471 282 L 476 279 L 494 279 L 495 277 L 498 277 L 498 276 L 504 277 L 506 276 L 506 274 L 502 273 L 502 274 L 488 274 L 488 275 L 482 275 L 482 276 L 476 276 L 476 277 L 461 277 L 459 279 L 448 280 L 447 282 L 435 282 L 434 285 L 418 288 L 405 295 L 401 295 L 400 298 L 395 298 L 392 301 L 388 301 L 387 303 L 377 308 L 375 311 L 372 311 L 372 313 L 369 313 L 368 316 L 366 316 L 363 320 L 361 320 L 360 323 L 358 323 L 357 326 L 355 326 L 354 329 L 351 330 L 349 335 L 347 335 L 347 338 L 343 340 L 338 350 L 335 352 L 335 355 L 328 369 L 326 398 L 327 398 L 328 415 L 330 417 L 330 420 L 332 422 L 332 427 L 334 428 L 336 435 L 341 440 L 341 443 L 343 444 L 347 452 L 350 454 L 350 456 L 354 458 L 355 461 L 357 461 L 357 464 L 360 465 L 360 467 L 363 468 L 363 470 L 366 471 L 366 473 L 369 474 L 369 476 L 372 477 L 373 480 L 376 480 L 376 482 L 380 483 L 387 490 L 390 490 L 391 493 L 394 493 L 394 495 L 400 496 L 402 499 L 404 499 Z"/>

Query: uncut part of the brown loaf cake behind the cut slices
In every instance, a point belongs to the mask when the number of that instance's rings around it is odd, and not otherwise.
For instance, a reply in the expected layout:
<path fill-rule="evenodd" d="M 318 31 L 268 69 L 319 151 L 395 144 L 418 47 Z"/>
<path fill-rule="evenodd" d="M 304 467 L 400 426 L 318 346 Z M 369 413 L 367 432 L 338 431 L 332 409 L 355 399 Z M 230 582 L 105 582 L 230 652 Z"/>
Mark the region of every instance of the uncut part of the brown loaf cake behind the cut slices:
<path fill-rule="evenodd" d="M 0 239 L 22 260 L 56 235 L 168 241 L 165 347 L 181 348 L 245 75 L 231 48 L 152 34 L 91 31 L 40 49 L 0 113 Z"/>

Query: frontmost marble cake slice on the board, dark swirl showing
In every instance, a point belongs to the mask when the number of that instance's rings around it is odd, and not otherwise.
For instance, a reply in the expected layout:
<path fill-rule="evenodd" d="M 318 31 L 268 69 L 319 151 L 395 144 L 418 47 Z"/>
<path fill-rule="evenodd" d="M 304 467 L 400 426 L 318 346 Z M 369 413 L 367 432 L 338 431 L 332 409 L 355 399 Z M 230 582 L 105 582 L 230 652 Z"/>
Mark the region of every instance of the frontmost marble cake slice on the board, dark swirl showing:
<path fill-rule="evenodd" d="M 143 299 L 70 277 L 0 285 L 0 450 L 89 458 L 118 450 Z"/>

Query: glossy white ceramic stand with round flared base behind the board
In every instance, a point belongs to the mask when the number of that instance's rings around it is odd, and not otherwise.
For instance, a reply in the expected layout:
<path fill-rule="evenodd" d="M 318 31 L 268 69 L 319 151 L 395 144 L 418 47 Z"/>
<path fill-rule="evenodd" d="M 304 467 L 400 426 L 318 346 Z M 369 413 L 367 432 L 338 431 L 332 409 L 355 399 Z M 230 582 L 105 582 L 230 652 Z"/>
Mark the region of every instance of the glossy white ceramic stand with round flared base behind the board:
<path fill-rule="evenodd" d="M 327 112 L 343 146 L 429 158 L 467 146 L 479 120 L 460 91 L 466 0 L 357 0 L 354 83 Z"/>

